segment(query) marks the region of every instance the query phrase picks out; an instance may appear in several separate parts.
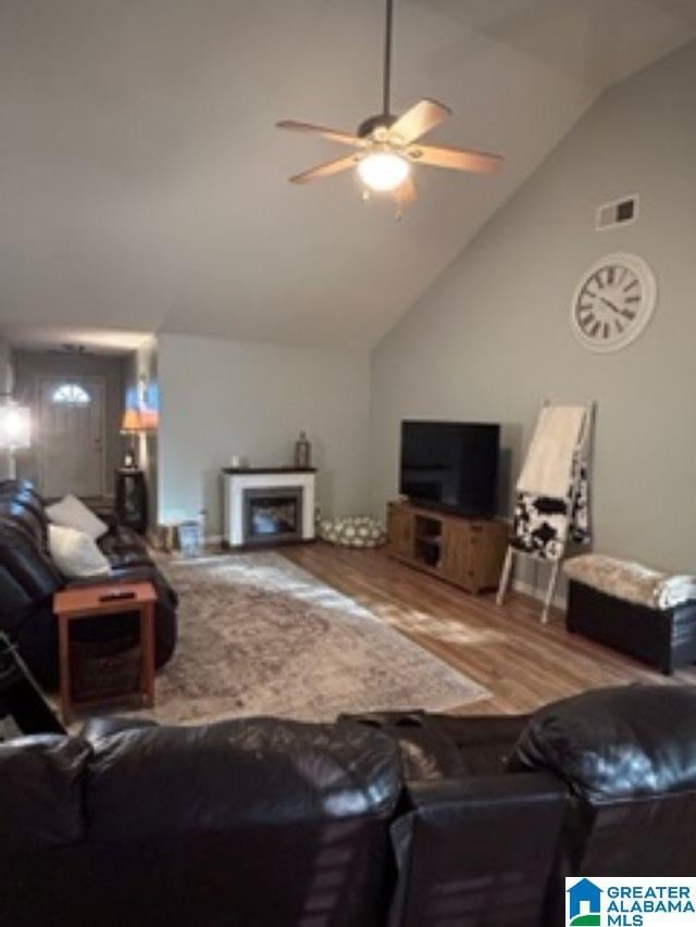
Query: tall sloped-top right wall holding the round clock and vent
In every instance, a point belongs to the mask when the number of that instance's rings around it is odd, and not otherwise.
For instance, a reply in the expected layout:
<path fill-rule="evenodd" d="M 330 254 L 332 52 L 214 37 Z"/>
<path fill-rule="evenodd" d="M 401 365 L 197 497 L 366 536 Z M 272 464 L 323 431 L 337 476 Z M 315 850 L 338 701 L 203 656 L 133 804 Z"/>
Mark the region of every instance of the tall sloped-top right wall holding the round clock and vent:
<path fill-rule="evenodd" d="M 499 421 L 517 474 L 545 397 L 594 399 L 597 549 L 696 569 L 695 87 L 691 43 L 609 91 L 377 347 L 376 511 L 401 418 Z M 595 208 L 634 192 L 639 221 L 596 233 Z M 612 251 L 651 264 L 659 305 L 636 343 L 599 355 L 574 341 L 570 302 Z"/>

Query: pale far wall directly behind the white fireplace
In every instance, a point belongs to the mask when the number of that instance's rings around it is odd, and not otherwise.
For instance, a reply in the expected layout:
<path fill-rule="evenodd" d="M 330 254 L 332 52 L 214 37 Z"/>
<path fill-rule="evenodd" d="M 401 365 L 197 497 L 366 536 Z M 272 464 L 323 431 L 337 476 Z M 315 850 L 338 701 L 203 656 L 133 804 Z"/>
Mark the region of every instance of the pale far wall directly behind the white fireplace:
<path fill-rule="evenodd" d="M 313 444 L 319 504 L 359 513 L 368 501 L 366 352 L 176 335 L 158 339 L 162 414 L 159 518 L 208 510 L 220 534 L 221 467 L 293 462 L 300 430 Z"/>

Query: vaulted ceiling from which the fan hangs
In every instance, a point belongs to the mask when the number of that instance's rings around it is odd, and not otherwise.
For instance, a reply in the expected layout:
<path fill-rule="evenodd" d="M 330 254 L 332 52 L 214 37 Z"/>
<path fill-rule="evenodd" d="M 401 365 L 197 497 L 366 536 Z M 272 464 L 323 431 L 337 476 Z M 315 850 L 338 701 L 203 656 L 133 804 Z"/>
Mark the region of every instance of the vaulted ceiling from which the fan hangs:
<path fill-rule="evenodd" d="M 378 111 L 382 0 L 0 0 L 0 331 L 374 343 L 605 88 L 696 36 L 693 0 L 395 5 L 395 109 L 443 100 L 433 141 L 507 155 L 421 168 L 401 222 L 350 174 L 290 186 L 344 151 L 274 128 Z"/>

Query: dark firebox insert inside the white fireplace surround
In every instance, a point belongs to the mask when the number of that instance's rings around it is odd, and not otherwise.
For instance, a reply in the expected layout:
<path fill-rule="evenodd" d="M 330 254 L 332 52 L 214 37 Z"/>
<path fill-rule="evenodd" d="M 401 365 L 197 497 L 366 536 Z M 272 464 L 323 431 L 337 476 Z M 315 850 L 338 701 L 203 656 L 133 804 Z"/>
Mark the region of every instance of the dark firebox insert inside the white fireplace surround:
<path fill-rule="evenodd" d="M 245 489 L 244 543 L 297 541 L 302 537 L 301 486 Z"/>

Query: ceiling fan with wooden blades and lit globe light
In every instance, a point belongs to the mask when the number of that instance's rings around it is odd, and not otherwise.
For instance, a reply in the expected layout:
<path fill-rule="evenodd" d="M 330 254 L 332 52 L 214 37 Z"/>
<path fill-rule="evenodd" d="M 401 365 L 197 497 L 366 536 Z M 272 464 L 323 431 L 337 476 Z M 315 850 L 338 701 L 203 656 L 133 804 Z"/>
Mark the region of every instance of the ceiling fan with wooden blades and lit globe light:
<path fill-rule="evenodd" d="M 391 113 L 393 28 L 394 0 L 386 0 L 382 112 L 364 120 L 355 135 L 295 120 L 283 120 L 276 123 L 278 128 L 316 133 L 331 141 L 357 149 L 351 154 L 326 161 L 316 167 L 296 174 L 290 177 L 290 183 L 308 184 L 310 180 L 331 177 L 341 171 L 356 167 L 365 198 L 373 192 L 390 195 L 400 210 L 411 203 L 417 196 L 412 174 L 413 164 L 450 167 L 478 174 L 494 174 L 502 166 L 504 159 L 498 154 L 420 143 L 419 139 L 451 115 L 451 110 L 444 103 L 438 103 L 437 100 L 421 100 L 400 116 Z"/>

